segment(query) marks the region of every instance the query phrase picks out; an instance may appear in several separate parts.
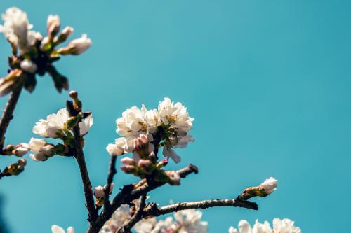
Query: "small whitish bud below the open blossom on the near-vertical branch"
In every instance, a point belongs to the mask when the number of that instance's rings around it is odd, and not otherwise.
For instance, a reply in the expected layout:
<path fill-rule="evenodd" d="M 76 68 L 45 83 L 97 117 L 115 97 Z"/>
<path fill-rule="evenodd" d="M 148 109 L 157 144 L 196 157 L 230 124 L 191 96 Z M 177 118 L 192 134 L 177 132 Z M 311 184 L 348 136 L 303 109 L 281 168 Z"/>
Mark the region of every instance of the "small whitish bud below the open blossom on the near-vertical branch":
<path fill-rule="evenodd" d="M 29 155 L 34 161 L 45 161 L 49 157 L 53 156 L 54 146 L 48 144 L 44 139 L 30 139 L 28 146 L 32 150 L 33 154 Z"/>

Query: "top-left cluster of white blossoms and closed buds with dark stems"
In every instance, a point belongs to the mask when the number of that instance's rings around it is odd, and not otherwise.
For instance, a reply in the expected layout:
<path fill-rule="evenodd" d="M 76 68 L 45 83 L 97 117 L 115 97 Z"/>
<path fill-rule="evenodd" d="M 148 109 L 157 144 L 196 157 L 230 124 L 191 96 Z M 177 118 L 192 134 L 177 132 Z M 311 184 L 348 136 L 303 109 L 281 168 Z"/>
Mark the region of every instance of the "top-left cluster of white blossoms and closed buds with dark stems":
<path fill-rule="evenodd" d="M 79 55 L 91 46 L 91 39 L 86 34 L 76 38 L 62 48 L 56 48 L 73 34 L 72 27 L 65 27 L 60 31 L 60 17 L 49 15 L 47 20 L 47 36 L 32 30 L 27 13 L 16 7 L 11 7 L 1 15 L 4 24 L 0 25 L 0 32 L 11 44 L 13 56 L 9 57 L 11 71 L 0 79 L 0 95 L 11 92 L 15 86 L 23 85 L 32 92 L 37 83 L 35 75 L 43 76 L 48 73 L 53 78 L 56 89 L 68 90 L 68 81 L 53 66 L 53 62 L 61 55 Z M 59 33 L 60 32 L 60 33 Z M 18 50 L 20 51 L 18 55 Z"/>

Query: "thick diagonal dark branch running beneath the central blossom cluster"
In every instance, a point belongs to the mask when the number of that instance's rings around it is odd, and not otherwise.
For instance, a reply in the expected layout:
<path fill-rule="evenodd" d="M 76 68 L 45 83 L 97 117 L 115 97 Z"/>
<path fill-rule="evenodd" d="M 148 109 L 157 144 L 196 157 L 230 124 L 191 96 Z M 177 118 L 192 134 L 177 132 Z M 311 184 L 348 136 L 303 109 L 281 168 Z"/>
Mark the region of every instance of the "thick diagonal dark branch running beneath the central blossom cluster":
<path fill-rule="evenodd" d="M 198 169 L 196 166 L 190 164 L 189 166 L 177 171 L 181 178 L 185 178 L 187 175 L 195 173 L 197 174 Z M 87 233 L 98 233 L 101 227 L 109 220 L 112 213 L 119 208 L 122 204 L 128 204 L 131 201 L 138 199 L 142 195 L 146 195 L 147 192 L 159 188 L 164 185 L 164 182 L 147 181 L 147 183 L 140 188 L 134 190 L 133 185 L 126 185 L 124 188 L 114 197 L 111 208 L 108 211 L 102 211 L 98 219 L 90 225 Z"/>

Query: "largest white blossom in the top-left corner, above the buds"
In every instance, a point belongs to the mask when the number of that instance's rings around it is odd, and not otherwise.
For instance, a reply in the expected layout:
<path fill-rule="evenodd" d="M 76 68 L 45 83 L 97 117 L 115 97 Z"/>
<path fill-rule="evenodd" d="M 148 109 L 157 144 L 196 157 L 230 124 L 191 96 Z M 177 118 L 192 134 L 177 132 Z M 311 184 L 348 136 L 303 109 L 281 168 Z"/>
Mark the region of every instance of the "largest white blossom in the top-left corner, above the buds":
<path fill-rule="evenodd" d="M 29 24 L 27 13 L 19 8 L 8 8 L 5 14 L 1 15 L 4 25 L 0 26 L 0 32 L 4 33 L 8 41 L 13 45 L 25 49 L 27 46 L 27 33 L 32 28 Z"/>

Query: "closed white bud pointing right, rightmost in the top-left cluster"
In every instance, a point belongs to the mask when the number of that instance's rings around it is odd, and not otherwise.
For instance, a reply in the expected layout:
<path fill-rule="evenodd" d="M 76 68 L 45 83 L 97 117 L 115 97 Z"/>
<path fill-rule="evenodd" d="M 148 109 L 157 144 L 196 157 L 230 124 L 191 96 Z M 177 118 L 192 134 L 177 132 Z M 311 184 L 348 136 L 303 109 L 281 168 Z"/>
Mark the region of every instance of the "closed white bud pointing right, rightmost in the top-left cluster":
<path fill-rule="evenodd" d="M 61 55 L 80 55 L 91 46 L 91 39 L 86 34 L 82 34 L 81 38 L 74 39 L 69 42 L 65 48 L 58 49 Z"/>

